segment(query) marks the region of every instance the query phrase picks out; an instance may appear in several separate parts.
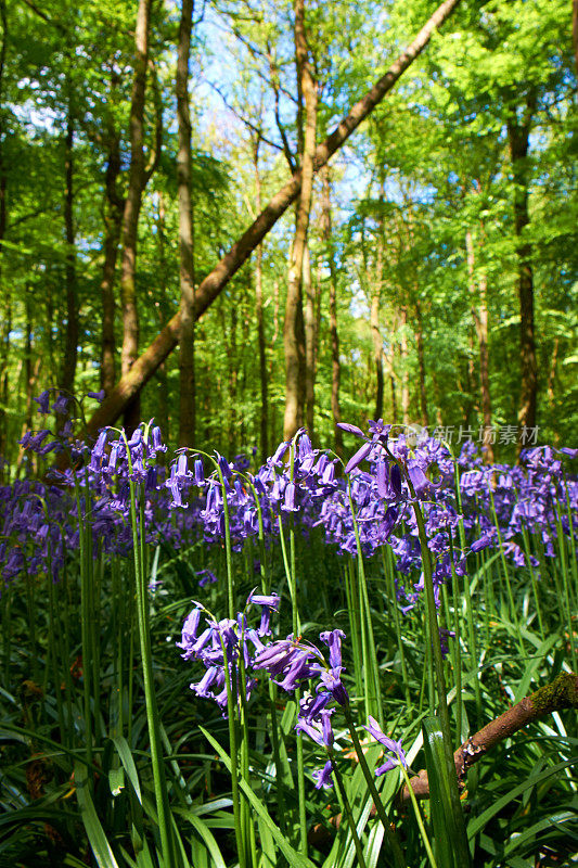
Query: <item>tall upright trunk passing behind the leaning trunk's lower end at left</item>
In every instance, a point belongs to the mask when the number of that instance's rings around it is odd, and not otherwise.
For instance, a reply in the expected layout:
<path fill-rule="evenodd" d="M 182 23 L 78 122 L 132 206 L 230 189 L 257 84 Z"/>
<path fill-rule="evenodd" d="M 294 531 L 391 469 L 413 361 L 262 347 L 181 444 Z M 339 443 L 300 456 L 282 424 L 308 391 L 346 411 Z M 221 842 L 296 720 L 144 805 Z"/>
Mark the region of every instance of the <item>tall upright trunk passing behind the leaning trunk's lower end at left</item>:
<path fill-rule="evenodd" d="M 149 62 L 150 0 L 139 0 L 134 34 L 134 78 L 130 102 L 130 169 L 123 215 L 123 261 L 120 298 L 123 304 L 121 373 L 127 376 L 139 352 L 137 308 L 137 240 L 142 194 L 146 183 L 144 164 L 144 98 Z M 125 426 L 131 432 L 141 421 L 140 397 L 136 393 L 125 407 Z"/>

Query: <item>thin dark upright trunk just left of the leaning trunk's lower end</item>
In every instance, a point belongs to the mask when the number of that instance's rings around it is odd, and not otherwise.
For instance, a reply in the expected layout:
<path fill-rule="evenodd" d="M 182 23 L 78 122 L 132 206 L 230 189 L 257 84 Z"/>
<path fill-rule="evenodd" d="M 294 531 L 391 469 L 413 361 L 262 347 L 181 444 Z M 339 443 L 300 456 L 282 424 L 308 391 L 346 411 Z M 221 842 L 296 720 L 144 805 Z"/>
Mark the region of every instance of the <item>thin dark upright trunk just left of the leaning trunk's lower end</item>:
<path fill-rule="evenodd" d="M 64 230 L 66 237 L 65 288 L 66 288 L 66 336 L 64 358 L 60 375 L 60 387 L 67 395 L 74 394 L 76 361 L 78 356 L 78 291 L 76 280 L 76 246 L 74 228 L 74 119 L 72 100 L 68 102 L 66 136 L 64 142 Z M 64 418 L 61 422 L 64 421 Z"/>

